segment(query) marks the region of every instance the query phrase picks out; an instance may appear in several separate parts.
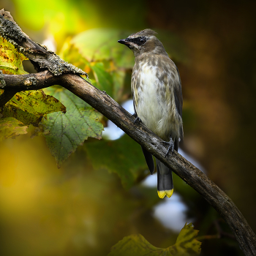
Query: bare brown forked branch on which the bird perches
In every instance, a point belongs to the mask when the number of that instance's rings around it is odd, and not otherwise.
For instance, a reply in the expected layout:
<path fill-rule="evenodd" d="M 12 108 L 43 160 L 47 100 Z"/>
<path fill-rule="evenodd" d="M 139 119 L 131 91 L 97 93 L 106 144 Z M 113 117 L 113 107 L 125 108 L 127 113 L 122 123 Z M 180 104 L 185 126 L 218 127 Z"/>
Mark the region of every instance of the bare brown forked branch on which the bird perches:
<path fill-rule="evenodd" d="M 157 157 L 157 159 L 159 159 L 165 165 L 172 168 L 174 173 L 176 173 L 179 177 L 186 181 L 189 186 L 200 193 L 200 195 L 202 195 L 208 201 L 208 203 L 210 203 L 211 206 L 213 206 L 219 212 L 222 218 L 225 219 L 233 234 L 236 236 L 238 244 L 243 250 L 244 254 L 256 255 L 255 233 L 253 233 L 252 228 L 249 227 L 246 219 L 244 219 L 241 212 L 238 210 L 233 201 L 227 197 L 225 192 L 219 189 L 219 187 L 214 184 L 214 182 L 211 181 L 204 173 L 184 159 L 184 157 L 181 157 L 181 155 L 176 151 L 173 154 L 168 154 L 165 158 L 167 147 L 165 144 L 161 143 L 162 139 L 151 132 L 151 130 L 149 130 L 143 124 L 134 124 L 134 118 L 132 115 L 124 110 L 121 105 L 118 105 L 118 103 L 109 97 L 104 91 L 99 91 L 99 89 L 95 88 L 93 85 L 91 85 L 91 83 L 87 82 L 78 75 L 63 74 L 63 72 L 61 72 L 62 75 L 56 76 L 56 73 L 54 72 L 56 69 L 53 70 L 53 67 L 48 67 L 49 65 L 53 64 L 52 62 L 48 62 L 48 65 L 44 66 L 44 61 L 48 61 L 48 53 L 38 53 L 37 47 L 36 49 L 33 48 L 35 43 L 31 41 L 31 39 L 27 39 L 26 35 L 26 47 L 29 45 L 32 46 L 31 50 L 27 48 L 24 51 L 23 44 L 25 39 L 23 36 L 21 36 L 19 32 L 18 35 L 21 37 L 20 40 L 18 37 L 10 38 L 10 27 L 9 30 L 6 30 L 6 28 L 3 29 L 3 26 L 5 26 L 4 24 L 6 23 L 3 21 L 0 15 L 1 36 L 14 42 L 18 50 L 22 51 L 32 61 L 37 62 L 40 69 L 47 68 L 50 71 L 31 75 L 3 75 L 6 83 L 4 86 L 5 90 L 31 90 L 52 86 L 53 84 L 59 84 L 64 86 L 69 91 L 72 91 L 73 94 L 89 103 L 89 105 L 113 121 L 113 123 L 126 132 L 130 138 L 138 142 L 141 146 L 146 148 L 147 151 L 153 154 L 154 157 Z M 7 25 L 8 24 L 9 23 L 7 23 Z M 17 27 L 17 25 L 14 26 L 13 30 L 16 29 L 18 31 L 19 27 L 18 29 Z M 9 31 L 9 34 L 5 33 L 4 31 Z M 12 36 L 13 34 L 15 33 L 13 32 Z M 47 50 L 45 49 L 45 51 Z M 61 63 L 59 63 L 57 67 L 59 67 Z M 28 82 L 26 83 L 26 81 Z"/>

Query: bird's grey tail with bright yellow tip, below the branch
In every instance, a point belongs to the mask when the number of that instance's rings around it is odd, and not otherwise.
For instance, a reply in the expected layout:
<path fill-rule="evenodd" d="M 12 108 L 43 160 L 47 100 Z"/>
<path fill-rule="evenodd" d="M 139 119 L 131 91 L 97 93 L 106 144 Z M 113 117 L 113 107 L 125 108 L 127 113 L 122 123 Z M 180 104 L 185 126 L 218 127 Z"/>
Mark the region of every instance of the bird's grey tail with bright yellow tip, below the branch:
<path fill-rule="evenodd" d="M 159 159 L 157 161 L 157 193 L 160 198 L 173 195 L 173 174 Z"/>

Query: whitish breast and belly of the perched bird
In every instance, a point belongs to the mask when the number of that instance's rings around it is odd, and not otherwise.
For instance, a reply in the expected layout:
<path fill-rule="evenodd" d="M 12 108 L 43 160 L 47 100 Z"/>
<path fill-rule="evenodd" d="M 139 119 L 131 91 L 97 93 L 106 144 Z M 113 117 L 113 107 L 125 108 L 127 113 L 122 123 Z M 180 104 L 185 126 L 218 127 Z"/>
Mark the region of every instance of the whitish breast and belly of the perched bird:
<path fill-rule="evenodd" d="M 163 140 L 170 135 L 179 138 L 179 124 L 176 118 L 176 105 L 172 86 L 161 83 L 157 78 L 157 68 L 147 65 L 140 72 L 140 88 L 138 89 L 138 117 L 146 127 Z M 168 79 L 169 80 L 169 79 Z"/>

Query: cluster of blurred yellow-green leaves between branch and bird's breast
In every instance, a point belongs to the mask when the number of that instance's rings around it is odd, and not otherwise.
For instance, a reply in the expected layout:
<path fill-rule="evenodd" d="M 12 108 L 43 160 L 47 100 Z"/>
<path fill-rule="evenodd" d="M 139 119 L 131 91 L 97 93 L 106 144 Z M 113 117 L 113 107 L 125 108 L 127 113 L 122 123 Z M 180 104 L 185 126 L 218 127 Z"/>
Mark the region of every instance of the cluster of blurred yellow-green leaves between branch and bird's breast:
<path fill-rule="evenodd" d="M 65 61 L 85 70 L 94 86 L 120 102 L 128 97 L 124 93 L 125 79 L 134 64 L 132 52 L 117 43 L 127 34 L 131 31 L 90 29 L 67 39 L 59 54 Z"/>

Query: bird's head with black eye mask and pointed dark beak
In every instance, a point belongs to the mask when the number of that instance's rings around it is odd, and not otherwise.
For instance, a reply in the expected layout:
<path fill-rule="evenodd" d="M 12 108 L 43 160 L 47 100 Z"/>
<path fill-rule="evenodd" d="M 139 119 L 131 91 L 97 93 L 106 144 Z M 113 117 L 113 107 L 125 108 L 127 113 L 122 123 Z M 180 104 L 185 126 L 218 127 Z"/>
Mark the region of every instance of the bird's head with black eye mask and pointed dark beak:
<path fill-rule="evenodd" d="M 135 57 L 143 53 L 167 55 L 162 42 L 155 37 L 157 32 L 151 29 L 144 29 L 135 34 L 130 34 L 126 39 L 118 40 L 119 43 L 127 45 Z"/>

